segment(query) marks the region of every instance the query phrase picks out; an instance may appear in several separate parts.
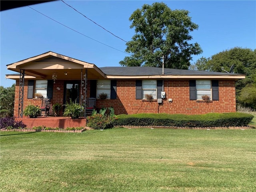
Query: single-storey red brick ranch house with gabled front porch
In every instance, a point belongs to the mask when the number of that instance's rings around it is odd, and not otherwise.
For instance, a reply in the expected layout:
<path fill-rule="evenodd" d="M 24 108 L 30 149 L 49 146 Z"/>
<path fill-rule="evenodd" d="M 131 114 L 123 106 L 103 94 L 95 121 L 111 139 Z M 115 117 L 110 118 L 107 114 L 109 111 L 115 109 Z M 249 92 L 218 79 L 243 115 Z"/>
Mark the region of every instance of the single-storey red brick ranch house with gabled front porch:
<path fill-rule="evenodd" d="M 14 116 L 22 118 L 28 104 L 40 105 L 36 92 L 52 104 L 70 100 L 84 104 L 96 98 L 96 108 L 112 106 L 115 114 L 206 114 L 236 112 L 235 82 L 243 74 L 164 69 L 155 67 L 102 67 L 54 52 L 8 64 L 6 78 L 16 80 Z M 105 100 L 100 93 L 107 93 Z M 145 94 L 151 94 L 149 102 Z M 203 95 L 210 102 L 202 100 Z M 20 106 L 20 107 L 19 107 Z M 50 118 L 50 117 L 49 117 Z"/>

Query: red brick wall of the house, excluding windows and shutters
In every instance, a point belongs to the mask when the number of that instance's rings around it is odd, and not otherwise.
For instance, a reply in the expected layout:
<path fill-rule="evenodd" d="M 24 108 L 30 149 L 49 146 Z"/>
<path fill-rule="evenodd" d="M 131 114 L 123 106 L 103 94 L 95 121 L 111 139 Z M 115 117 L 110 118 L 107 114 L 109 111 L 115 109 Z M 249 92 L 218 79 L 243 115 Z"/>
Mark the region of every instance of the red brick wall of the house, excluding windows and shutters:
<path fill-rule="evenodd" d="M 24 108 L 32 103 L 41 105 L 41 100 L 27 99 L 27 85 L 24 86 Z M 60 90 L 57 89 L 60 88 Z M 87 97 L 90 96 L 90 80 L 87 86 Z M 102 107 L 114 107 L 115 114 L 136 113 L 169 113 L 169 114 L 206 114 L 211 112 L 236 112 L 235 81 L 219 80 L 219 100 L 209 103 L 198 102 L 189 99 L 189 80 L 164 80 L 164 91 L 166 99 L 162 105 L 157 101 L 148 102 L 135 99 L 135 80 L 117 80 L 117 99 L 106 99 L 96 101 L 98 109 Z M 56 80 L 53 86 L 52 104 L 63 104 L 64 81 Z M 18 116 L 18 94 L 19 82 L 16 83 L 14 116 Z M 169 103 L 168 98 L 173 102 Z"/>

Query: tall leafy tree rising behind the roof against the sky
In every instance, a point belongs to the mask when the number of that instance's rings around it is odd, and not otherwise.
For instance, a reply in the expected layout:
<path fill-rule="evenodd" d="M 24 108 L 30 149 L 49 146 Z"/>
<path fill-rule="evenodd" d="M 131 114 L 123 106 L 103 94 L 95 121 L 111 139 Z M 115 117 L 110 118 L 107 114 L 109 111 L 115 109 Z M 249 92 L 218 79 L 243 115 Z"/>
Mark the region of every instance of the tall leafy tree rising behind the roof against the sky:
<path fill-rule="evenodd" d="M 198 29 L 191 21 L 187 10 L 171 10 L 164 3 L 144 4 L 135 10 L 129 20 L 135 35 L 126 43 L 126 52 L 131 54 L 119 63 L 122 66 L 162 66 L 188 69 L 192 55 L 202 53 L 190 32 Z"/>

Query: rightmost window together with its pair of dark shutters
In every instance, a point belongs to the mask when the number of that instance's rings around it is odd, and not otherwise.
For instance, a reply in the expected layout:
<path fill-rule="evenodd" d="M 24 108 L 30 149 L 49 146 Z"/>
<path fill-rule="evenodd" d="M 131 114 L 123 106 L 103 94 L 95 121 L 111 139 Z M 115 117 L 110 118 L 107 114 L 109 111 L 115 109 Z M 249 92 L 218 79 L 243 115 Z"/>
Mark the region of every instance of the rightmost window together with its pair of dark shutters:
<path fill-rule="evenodd" d="M 190 80 L 190 100 L 202 100 L 203 95 L 208 95 L 211 100 L 219 100 L 218 80 Z"/>

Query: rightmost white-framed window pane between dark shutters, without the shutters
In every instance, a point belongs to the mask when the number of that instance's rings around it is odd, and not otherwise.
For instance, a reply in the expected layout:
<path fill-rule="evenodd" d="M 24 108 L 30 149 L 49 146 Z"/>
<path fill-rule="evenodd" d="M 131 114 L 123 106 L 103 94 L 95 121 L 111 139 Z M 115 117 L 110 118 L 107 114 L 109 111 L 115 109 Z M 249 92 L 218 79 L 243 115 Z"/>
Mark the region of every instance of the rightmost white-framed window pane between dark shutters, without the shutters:
<path fill-rule="evenodd" d="M 207 95 L 212 99 L 212 86 L 210 80 L 196 80 L 196 99 L 202 100 L 202 96 Z"/>

